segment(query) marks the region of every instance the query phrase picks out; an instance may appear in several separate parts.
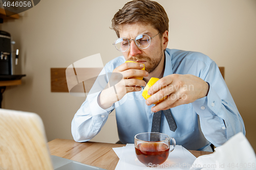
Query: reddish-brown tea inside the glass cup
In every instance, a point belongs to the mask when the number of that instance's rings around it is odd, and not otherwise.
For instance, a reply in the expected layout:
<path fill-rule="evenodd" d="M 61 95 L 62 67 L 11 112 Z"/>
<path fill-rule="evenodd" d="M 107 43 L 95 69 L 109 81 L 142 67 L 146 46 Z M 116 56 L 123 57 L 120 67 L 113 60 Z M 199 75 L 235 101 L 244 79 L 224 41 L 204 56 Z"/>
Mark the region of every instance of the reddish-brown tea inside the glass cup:
<path fill-rule="evenodd" d="M 135 151 L 139 161 L 146 166 L 162 164 L 169 156 L 168 145 L 162 142 L 139 143 Z"/>

